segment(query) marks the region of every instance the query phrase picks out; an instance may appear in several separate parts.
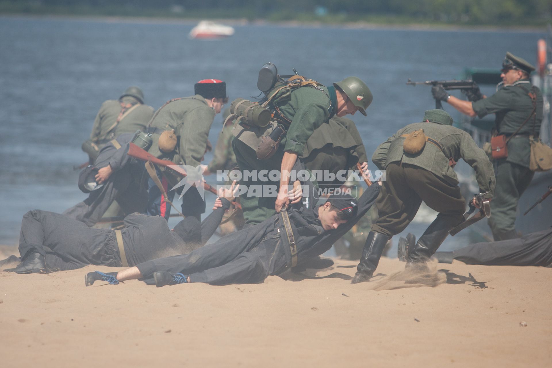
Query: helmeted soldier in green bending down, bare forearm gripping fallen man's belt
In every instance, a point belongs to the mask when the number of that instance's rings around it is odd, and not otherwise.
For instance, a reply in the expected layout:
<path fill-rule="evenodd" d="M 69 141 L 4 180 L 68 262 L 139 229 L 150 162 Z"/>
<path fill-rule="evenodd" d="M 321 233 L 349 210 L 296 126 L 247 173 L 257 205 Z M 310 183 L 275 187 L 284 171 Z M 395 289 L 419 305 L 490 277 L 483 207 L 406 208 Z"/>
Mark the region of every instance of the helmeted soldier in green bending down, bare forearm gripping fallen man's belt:
<path fill-rule="evenodd" d="M 294 82 L 293 78 L 303 82 Z M 370 89 L 357 77 L 345 78 L 329 87 L 298 76 L 290 79 L 277 84 L 269 83 L 268 89 L 259 87 L 266 94 L 263 106 L 273 116 L 270 123 L 267 121 L 270 129 L 273 129 L 272 133 L 266 133 L 265 125 L 259 129 L 239 122 L 234 127 L 236 139 L 232 146 L 242 173 L 245 170 L 257 174 L 261 170 L 283 173 L 279 181 L 271 180 L 270 175 L 268 181 L 258 177 L 242 180 L 241 183 L 247 187 L 262 188 L 266 185 L 275 188 L 277 192 L 277 196 L 253 195 L 249 191 L 240 195 L 246 226 L 262 222 L 290 204 L 287 195 L 290 178 L 285 173 L 291 172 L 298 157 L 304 154 L 305 144 L 317 128 L 328 124 L 333 116 L 354 115 L 357 111 L 366 115 L 365 109 L 372 102 Z M 279 137 L 273 139 L 273 133 L 278 133 Z M 267 140 L 269 136 L 270 140 Z"/>

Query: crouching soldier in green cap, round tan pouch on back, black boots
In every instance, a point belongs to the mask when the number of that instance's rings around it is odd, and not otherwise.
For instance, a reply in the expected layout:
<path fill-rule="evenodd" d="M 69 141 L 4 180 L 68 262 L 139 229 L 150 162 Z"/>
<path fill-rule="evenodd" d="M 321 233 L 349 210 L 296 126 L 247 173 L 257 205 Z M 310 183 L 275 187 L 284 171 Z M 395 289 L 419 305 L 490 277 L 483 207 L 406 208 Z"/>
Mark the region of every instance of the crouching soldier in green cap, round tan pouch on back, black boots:
<path fill-rule="evenodd" d="M 421 136 L 424 139 L 418 152 L 406 152 L 412 150 L 404 146 L 407 138 L 404 135 L 420 129 L 426 137 Z M 439 214 L 418 239 L 408 258 L 409 267 L 427 261 L 449 231 L 464 220 L 466 203 L 452 168 L 460 158 L 475 169 L 483 198 L 491 199 L 495 175 L 489 158 L 468 133 L 452 126 L 452 117 L 444 110 L 426 111 L 422 122 L 407 125 L 378 146 L 372 162 L 380 170 L 386 170 L 386 180 L 376 200 L 379 218 L 364 244 L 353 284 L 371 278 L 385 244 L 405 230 L 422 201 Z"/>

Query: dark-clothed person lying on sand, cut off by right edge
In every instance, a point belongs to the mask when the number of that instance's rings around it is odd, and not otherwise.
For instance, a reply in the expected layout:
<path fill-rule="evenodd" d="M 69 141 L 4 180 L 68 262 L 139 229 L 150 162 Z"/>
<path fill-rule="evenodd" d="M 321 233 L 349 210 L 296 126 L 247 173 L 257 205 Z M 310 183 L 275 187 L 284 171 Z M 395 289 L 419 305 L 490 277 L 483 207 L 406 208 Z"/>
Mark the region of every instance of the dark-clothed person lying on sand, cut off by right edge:
<path fill-rule="evenodd" d="M 399 241 L 399 259 L 404 260 L 416 243 L 412 234 Z M 439 263 L 457 259 L 466 264 L 487 266 L 550 266 L 552 265 L 552 227 L 529 233 L 521 238 L 471 244 L 453 252 L 436 252 Z"/>

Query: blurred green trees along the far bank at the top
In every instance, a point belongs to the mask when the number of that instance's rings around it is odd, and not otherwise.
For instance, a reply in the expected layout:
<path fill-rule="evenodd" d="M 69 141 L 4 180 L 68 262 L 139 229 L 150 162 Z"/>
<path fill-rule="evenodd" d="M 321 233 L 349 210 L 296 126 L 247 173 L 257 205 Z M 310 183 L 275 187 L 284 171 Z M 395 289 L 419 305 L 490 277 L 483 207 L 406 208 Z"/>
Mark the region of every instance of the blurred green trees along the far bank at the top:
<path fill-rule="evenodd" d="M 551 0 L 0 0 L 0 13 L 541 25 Z"/>

